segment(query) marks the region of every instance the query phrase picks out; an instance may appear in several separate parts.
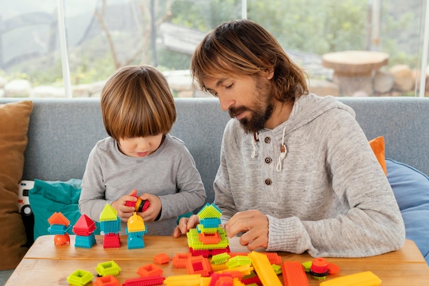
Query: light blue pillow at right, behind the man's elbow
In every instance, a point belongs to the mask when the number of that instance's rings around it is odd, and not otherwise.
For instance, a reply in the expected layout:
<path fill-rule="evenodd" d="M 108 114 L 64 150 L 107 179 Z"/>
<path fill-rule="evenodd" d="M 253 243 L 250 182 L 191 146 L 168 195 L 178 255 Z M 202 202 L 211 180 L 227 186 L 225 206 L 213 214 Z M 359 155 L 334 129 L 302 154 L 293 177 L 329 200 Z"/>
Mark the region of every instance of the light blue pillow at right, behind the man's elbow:
<path fill-rule="evenodd" d="M 417 169 L 386 158 L 387 180 L 413 240 L 429 265 L 429 178 Z"/>

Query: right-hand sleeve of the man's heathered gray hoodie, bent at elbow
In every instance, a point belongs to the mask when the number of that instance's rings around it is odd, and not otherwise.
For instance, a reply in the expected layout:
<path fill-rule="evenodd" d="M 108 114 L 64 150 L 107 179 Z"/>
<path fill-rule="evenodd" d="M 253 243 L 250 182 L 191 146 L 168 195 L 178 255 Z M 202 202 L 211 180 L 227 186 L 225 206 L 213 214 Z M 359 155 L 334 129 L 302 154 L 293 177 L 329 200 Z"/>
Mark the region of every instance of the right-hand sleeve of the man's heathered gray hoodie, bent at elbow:
<path fill-rule="evenodd" d="M 347 112 L 321 127 L 319 142 L 332 190 L 347 210 L 314 220 L 269 218 L 267 251 L 312 257 L 367 257 L 397 250 L 405 239 L 399 207 L 360 126 Z M 324 134 L 324 135 L 323 135 Z M 317 164 L 317 162 L 316 162 Z M 321 200 L 330 207 L 330 202 Z"/>

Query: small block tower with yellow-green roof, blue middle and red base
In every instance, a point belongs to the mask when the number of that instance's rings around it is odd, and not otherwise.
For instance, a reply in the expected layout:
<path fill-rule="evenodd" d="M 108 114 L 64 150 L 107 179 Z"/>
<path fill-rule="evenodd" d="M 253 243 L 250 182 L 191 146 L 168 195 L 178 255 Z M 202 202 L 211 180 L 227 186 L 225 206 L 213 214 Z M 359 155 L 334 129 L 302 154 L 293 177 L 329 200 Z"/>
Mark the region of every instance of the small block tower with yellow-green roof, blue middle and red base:
<path fill-rule="evenodd" d="M 103 248 L 121 247 L 121 238 L 119 237 L 121 218 L 118 216 L 117 210 L 110 204 L 106 204 L 100 213 L 100 228 L 104 233 Z"/>

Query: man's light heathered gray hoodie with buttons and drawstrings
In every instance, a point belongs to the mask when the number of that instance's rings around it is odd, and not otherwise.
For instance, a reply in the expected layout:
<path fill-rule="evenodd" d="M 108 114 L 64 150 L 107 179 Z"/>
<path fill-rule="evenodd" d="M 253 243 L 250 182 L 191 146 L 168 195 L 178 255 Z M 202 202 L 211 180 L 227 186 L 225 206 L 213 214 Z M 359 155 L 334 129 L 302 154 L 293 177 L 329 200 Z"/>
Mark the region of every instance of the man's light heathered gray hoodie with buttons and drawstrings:
<path fill-rule="evenodd" d="M 276 171 L 283 132 L 286 157 Z M 223 223 L 258 209 L 269 219 L 267 251 L 366 257 L 402 247 L 400 209 L 352 108 L 303 95 L 289 120 L 260 130 L 255 148 L 253 140 L 229 121 L 214 183 Z"/>

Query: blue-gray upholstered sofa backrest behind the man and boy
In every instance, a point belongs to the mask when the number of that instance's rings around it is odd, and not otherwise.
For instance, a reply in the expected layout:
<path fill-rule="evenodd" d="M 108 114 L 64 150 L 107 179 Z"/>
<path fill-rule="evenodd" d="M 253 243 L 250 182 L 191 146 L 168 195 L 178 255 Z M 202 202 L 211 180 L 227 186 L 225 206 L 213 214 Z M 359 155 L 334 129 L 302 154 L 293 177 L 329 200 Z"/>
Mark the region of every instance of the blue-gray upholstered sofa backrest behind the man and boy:
<path fill-rule="evenodd" d="M 339 97 L 356 111 L 368 139 L 384 136 L 387 158 L 429 174 L 429 98 Z M 0 104 L 20 99 L 0 98 Z M 95 143 L 106 136 L 99 99 L 32 99 L 23 180 L 82 178 Z M 171 134 L 193 154 L 212 202 L 225 123 L 230 119 L 215 98 L 176 99 Z M 429 190 L 428 190 L 429 192 Z M 427 219 L 427 217 L 426 217 Z M 10 275 L 0 272 L 0 285 Z"/>

